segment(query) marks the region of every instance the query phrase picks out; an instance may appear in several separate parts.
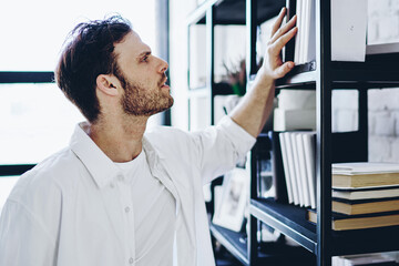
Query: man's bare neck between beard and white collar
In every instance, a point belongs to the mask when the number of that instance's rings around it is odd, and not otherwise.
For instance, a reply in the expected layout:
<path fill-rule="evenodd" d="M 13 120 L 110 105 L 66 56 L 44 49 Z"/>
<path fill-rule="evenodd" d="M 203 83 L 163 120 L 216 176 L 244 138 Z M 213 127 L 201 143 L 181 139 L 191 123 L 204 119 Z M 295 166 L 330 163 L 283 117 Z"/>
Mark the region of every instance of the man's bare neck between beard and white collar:
<path fill-rule="evenodd" d="M 142 151 L 146 116 L 102 119 L 91 124 L 89 136 L 115 163 L 130 162 Z"/>

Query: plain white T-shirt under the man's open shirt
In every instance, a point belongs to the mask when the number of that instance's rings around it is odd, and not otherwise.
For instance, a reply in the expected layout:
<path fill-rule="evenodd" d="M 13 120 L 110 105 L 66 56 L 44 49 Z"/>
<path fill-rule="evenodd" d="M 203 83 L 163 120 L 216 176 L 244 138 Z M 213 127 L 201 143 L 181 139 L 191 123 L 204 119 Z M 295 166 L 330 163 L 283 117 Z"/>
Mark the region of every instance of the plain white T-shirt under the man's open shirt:
<path fill-rule="evenodd" d="M 176 201 L 162 181 L 151 174 L 145 152 L 127 163 L 115 163 L 121 170 L 115 182 L 122 205 L 126 206 L 126 224 L 134 265 L 173 265 Z M 156 256 L 154 256 L 156 254 Z"/>

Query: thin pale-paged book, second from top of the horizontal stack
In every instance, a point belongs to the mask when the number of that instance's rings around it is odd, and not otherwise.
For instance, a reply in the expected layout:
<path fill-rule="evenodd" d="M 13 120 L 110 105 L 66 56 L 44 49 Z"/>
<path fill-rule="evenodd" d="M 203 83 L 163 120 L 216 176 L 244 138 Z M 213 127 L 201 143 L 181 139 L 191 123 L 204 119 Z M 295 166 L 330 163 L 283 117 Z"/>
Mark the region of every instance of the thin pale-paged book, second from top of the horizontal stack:
<path fill-rule="evenodd" d="M 332 197 L 346 200 L 399 197 L 399 186 L 366 187 L 358 190 L 332 190 Z"/>

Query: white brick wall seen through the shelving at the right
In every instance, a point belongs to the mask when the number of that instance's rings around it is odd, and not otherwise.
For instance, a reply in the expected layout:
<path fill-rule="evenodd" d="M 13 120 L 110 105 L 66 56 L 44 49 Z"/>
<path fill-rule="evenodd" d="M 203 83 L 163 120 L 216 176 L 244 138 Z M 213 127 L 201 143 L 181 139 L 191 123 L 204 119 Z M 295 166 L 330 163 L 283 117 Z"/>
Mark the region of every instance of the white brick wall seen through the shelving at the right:
<path fill-rule="evenodd" d="M 398 42 L 398 29 L 399 0 L 369 0 L 369 43 Z M 354 95 L 332 98 L 338 105 L 332 111 L 338 120 L 332 127 L 351 127 L 357 123 L 357 109 L 348 102 L 350 99 L 354 99 Z M 368 91 L 370 162 L 399 162 L 398 103 L 399 89 Z"/>

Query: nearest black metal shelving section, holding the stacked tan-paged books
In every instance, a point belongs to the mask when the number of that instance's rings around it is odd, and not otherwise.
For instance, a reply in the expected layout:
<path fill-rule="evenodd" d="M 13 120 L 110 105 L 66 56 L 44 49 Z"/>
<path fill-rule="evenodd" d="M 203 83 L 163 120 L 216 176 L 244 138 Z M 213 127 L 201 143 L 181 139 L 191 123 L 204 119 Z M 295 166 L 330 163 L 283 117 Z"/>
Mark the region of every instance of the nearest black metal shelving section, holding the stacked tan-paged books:
<path fill-rule="evenodd" d="M 256 0 L 249 1 L 250 4 L 247 7 L 256 7 Z M 367 89 L 398 86 L 399 70 L 393 66 L 398 54 L 367 57 L 365 63 L 331 62 L 329 0 L 316 0 L 316 70 L 303 72 L 301 65 L 298 65 L 297 70 L 294 69 L 286 78 L 278 80 L 276 88 L 295 90 L 305 85 L 316 90 L 318 223 L 314 225 L 307 222 L 305 208 L 258 198 L 254 187 L 250 219 L 263 221 L 295 239 L 315 254 L 317 265 L 321 266 L 330 265 L 331 256 L 335 255 L 399 249 L 399 245 L 387 241 L 389 237 L 399 236 L 398 226 L 349 232 L 331 231 L 331 163 L 367 161 Z M 253 49 L 250 45 L 249 48 Z M 248 54 L 252 53 L 254 51 Z M 253 74 L 253 71 L 249 73 Z M 331 133 L 331 91 L 336 89 L 354 89 L 359 92 L 357 132 Z M 252 186 L 256 184 L 255 178 L 252 176 Z"/>

